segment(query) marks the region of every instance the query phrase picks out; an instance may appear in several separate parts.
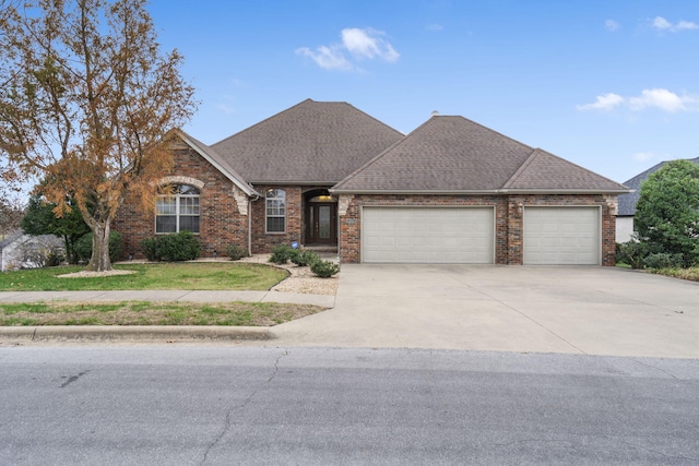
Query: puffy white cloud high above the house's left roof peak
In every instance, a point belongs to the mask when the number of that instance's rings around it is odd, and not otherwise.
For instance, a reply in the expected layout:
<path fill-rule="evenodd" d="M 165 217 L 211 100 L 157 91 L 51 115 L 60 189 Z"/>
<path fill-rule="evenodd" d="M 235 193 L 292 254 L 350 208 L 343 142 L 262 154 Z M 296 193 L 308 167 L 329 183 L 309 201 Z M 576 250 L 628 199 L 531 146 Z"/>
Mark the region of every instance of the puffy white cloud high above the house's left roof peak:
<path fill-rule="evenodd" d="M 358 70 L 346 57 L 345 51 L 359 60 L 381 59 L 394 62 L 400 53 L 383 39 L 386 33 L 372 28 L 359 29 L 348 27 L 342 29 L 342 44 L 320 46 L 316 50 L 308 47 L 296 49 L 297 55 L 309 57 L 320 68 L 327 70 Z"/>

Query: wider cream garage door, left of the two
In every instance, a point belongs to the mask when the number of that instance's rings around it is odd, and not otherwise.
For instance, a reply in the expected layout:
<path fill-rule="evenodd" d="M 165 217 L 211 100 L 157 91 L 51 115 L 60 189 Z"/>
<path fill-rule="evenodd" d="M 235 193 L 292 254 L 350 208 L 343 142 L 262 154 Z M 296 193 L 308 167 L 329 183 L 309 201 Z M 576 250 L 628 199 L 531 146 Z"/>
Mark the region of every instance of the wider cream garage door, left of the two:
<path fill-rule="evenodd" d="M 491 207 L 364 207 L 362 261 L 493 263 Z"/>

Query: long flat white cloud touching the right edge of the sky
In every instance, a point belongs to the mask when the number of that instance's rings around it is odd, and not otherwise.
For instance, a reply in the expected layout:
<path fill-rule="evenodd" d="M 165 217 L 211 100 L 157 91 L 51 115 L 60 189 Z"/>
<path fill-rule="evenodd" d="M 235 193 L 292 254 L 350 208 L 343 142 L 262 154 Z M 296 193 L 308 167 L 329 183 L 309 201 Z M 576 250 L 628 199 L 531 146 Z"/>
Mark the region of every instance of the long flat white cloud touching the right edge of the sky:
<path fill-rule="evenodd" d="M 578 105 L 578 110 L 613 110 L 618 107 L 626 107 L 632 111 L 640 111 L 647 108 L 656 108 L 667 113 L 678 111 L 699 111 L 699 96 L 691 94 L 675 94 L 664 88 L 643 89 L 641 95 L 635 97 L 623 97 L 618 94 L 608 93 L 597 96 L 592 104 Z"/>

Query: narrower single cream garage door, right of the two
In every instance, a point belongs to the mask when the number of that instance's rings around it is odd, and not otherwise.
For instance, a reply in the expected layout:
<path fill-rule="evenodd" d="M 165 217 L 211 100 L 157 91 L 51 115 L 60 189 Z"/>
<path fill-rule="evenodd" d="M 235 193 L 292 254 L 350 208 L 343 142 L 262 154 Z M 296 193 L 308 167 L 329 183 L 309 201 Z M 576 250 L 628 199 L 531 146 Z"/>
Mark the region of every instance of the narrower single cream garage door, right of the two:
<path fill-rule="evenodd" d="M 524 264 L 599 265 L 599 207 L 524 207 Z"/>

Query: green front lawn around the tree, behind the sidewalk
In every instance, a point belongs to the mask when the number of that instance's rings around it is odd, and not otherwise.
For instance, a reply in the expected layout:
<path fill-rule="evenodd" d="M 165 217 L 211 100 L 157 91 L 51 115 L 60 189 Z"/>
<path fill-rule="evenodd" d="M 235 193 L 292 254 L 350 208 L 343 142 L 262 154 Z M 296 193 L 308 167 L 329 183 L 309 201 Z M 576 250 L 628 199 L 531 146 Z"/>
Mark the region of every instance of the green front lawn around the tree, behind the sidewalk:
<path fill-rule="evenodd" d="M 80 272 L 80 266 L 33 268 L 0 273 L 3 291 L 123 290 L 123 289 L 233 289 L 265 290 L 288 276 L 284 270 L 264 264 L 227 262 L 179 262 L 123 264 L 116 270 L 130 275 L 59 278 Z"/>

